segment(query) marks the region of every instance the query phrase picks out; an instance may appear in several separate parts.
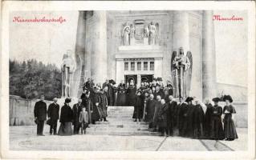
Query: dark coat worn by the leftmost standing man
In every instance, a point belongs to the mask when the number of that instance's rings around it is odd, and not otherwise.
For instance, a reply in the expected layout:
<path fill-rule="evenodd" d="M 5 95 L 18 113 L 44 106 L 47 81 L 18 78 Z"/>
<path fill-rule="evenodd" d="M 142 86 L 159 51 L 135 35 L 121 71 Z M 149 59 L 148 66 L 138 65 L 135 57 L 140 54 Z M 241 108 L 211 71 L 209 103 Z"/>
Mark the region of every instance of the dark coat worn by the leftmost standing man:
<path fill-rule="evenodd" d="M 34 116 L 39 121 L 45 121 L 47 119 L 47 103 L 39 101 L 35 103 Z"/>

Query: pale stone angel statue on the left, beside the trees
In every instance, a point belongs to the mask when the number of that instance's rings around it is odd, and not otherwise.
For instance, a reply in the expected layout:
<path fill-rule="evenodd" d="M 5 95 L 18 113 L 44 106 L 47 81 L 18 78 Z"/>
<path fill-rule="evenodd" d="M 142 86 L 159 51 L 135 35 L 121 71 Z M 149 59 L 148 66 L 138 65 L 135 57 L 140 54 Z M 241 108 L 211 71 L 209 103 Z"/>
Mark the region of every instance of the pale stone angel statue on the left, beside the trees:
<path fill-rule="evenodd" d="M 72 58 L 71 50 L 63 54 L 62 71 L 62 97 L 67 98 L 71 95 L 71 83 L 73 82 L 73 73 L 75 71 L 75 60 Z"/>

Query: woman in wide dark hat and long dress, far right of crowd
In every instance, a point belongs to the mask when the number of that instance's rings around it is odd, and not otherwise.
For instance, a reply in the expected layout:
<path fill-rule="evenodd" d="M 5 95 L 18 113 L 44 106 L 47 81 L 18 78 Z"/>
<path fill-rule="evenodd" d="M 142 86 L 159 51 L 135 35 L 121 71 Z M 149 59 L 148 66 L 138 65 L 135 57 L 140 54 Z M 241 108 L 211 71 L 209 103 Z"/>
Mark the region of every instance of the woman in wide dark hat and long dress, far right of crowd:
<path fill-rule="evenodd" d="M 236 110 L 234 106 L 231 105 L 233 99 L 230 95 L 224 96 L 224 101 L 226 102 L 226 106 L 223 108 L 224 117 L 224 133 L 227 141 L 233 141 L 238 138 L 238 134 L 236 131 L 236 127 L 234 126 L 234 121 L 232 119 L 232 114 L 236 114 Z"/>

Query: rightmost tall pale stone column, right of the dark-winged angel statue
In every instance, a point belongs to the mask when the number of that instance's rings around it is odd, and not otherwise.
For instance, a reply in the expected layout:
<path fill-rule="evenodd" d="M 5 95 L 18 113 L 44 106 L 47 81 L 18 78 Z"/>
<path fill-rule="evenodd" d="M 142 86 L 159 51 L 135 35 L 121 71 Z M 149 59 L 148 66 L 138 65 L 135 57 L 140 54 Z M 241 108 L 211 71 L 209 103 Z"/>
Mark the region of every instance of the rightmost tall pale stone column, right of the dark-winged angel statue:
<path fill-rule="evenodd" d="M 213 27 L 213 11 L 205 10 L 202 14 L 202 93 L 205 98 L 216 96 L 216 56 Z"/>

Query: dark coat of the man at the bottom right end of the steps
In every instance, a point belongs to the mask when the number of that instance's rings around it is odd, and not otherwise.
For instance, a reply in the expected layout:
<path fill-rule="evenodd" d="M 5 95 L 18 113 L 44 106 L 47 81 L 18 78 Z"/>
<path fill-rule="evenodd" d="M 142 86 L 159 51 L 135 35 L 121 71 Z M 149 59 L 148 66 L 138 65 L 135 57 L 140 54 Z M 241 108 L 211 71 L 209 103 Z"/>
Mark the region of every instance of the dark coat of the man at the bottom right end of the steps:
<path fill-rule="evenodd" d="M 157 125 L 159 127 L 167 127 L 168 122 L 168 113 L 169 112 L 169 105 L 168 104 L 161 104 L 158 112 L 158 120 Z"/>

